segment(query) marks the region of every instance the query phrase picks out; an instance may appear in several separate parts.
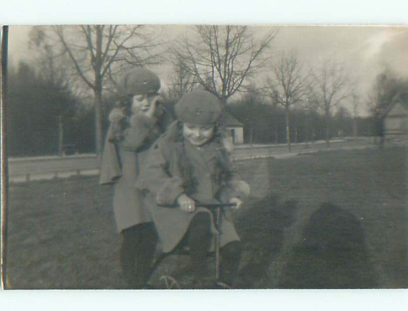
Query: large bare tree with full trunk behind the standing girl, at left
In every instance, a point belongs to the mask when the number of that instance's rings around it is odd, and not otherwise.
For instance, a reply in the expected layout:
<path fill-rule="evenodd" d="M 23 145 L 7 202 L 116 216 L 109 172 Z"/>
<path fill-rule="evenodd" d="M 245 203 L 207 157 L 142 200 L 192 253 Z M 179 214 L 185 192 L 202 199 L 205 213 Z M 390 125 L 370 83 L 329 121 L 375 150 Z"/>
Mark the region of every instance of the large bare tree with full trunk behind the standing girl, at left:
<path fill-rule="evenodd" d="M 59 53 L 67 55 L 74 72 L 93 92 L 95 106 L 95 146 L 100 164 L 103 144 L 103 92 L 115 86 L 118 73 L 129 66 L 156 64 L 158 53 L 152 53 L 157 35 L 144 27 L 118 25 L 52 26 L 43 39 Z"/>

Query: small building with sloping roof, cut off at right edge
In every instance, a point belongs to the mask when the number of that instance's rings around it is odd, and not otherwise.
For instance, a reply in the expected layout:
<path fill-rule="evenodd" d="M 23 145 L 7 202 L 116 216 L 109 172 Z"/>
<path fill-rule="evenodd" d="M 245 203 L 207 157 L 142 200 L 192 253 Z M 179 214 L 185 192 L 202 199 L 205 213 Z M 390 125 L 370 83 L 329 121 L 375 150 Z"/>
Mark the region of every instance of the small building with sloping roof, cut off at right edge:
<path fill-rule="evenodd" d="M 408 94 L 395 96 L 383 114 L 385 138 L 408 134 Z"/>

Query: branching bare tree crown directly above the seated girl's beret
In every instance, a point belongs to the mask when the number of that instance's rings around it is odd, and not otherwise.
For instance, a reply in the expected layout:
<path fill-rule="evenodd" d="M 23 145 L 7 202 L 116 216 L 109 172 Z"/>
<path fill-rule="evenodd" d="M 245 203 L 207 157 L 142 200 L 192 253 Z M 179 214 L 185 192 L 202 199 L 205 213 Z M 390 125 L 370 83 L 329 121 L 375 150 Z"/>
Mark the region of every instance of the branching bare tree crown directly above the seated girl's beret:
<path fill-rule="evenodd" d="M 200 25 L 195 27 L 195 40 L 180 41 L 177 54 L 186 70 L 225 107 L 245 79 L 266 64 L 269 58 L 263 54 L 276 34 L 272 31 L 257 40 L 248 26 Z"/>

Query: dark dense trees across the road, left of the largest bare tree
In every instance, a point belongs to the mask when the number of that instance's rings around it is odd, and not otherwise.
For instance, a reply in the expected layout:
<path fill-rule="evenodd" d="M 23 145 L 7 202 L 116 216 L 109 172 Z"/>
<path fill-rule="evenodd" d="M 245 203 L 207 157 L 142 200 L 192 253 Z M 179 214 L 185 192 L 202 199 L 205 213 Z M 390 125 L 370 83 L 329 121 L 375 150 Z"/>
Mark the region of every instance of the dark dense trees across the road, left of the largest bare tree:
<path fill-rule="evenodd" d="M 8 70 L 9 157 L 61 154 L 63 146 L 94 152 L 92 109 L 73 92 L 26 63 Z"/>

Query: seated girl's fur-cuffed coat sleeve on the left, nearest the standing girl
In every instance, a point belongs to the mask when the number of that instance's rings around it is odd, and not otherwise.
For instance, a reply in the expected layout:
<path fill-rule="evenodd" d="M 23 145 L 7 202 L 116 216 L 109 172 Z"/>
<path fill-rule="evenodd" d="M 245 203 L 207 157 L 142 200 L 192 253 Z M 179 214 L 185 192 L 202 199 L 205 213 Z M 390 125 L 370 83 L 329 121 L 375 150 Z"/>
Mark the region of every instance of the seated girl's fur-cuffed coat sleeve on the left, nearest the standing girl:
<path fill-rule="evenodd" d="M 170 161 L 174 159 L 170 159 L 168 151 L 166 144 L 159 139 L 149 150 L 136 183 L 137 188 L 151 192 L 156 203 L 163 205 L 174 204 L 184 193 L 182 178 L 169 172 Z"/>

